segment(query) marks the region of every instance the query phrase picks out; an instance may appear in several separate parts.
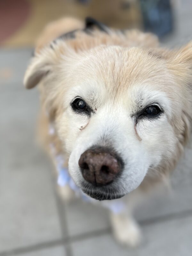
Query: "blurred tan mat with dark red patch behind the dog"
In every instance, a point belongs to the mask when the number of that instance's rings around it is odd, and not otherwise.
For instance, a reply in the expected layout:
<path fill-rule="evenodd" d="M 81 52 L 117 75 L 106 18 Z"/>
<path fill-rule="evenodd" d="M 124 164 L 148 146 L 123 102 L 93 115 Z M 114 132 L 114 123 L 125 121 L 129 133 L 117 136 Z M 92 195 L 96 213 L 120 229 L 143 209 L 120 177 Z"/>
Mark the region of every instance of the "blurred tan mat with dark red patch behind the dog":
<path fill-rule="evenodd" d="M 117 28 L 140 26 L 137 4 L 122 9 L 122 1 L 92 0 L 89 4 L 81 4 L 75 0 L 0 0 L 0 44 L 5 47 L 34 46 L 44 26 L 63 16 L 80 19 L 92 16 Z"/>

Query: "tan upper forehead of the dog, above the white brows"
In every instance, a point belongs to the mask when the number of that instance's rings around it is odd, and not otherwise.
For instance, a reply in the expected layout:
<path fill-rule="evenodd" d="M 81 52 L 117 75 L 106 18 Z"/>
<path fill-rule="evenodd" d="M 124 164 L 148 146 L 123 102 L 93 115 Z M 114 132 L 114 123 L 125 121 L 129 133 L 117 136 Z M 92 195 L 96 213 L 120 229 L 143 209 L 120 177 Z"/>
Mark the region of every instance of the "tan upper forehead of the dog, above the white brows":
<path fill-rule="evenodd" d="M 75 72 L 75 73 L 74 73 Z M 81 56 L 73 78 L 92 87 L 105 87 L 108 92 L 124 93 L 136 84 L 164 84 L 168 75 L 164 60 L 147 50 L 120 46 L 97 47 Z M 90 82 L 91 81 L 91 82 Z"/>

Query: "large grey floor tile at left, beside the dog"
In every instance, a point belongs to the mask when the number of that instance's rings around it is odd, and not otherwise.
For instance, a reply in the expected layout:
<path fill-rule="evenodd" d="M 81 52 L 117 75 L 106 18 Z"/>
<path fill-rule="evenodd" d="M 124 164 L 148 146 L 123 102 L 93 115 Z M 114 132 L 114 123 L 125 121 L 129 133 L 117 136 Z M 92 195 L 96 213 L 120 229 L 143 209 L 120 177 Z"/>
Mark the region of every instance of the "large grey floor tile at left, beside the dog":
<path fill-rule="evenodd" d="M 52 165 L 35 143 L 36 91 L 0 94 L 0 252 L 60 239 Z"/>

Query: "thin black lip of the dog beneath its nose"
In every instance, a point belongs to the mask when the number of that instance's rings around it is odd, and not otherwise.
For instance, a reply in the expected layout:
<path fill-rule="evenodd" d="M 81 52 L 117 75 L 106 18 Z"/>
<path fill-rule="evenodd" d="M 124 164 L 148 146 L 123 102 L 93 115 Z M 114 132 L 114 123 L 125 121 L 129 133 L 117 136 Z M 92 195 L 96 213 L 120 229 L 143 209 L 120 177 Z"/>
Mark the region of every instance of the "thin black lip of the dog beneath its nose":
<path fill-rule="evenodd" d="M 98 192 L 94 191 L 92 189 L 85 189 L 82 188 L 82 191 L 87 194 L 88 196 L 92 197 L 93 199 L 103 201 L 103 200 L 114 200 L 114 199 L 119 199 L 125 195 L 120 195 L 116 193 L 105 193 L 105 192 Z"/>

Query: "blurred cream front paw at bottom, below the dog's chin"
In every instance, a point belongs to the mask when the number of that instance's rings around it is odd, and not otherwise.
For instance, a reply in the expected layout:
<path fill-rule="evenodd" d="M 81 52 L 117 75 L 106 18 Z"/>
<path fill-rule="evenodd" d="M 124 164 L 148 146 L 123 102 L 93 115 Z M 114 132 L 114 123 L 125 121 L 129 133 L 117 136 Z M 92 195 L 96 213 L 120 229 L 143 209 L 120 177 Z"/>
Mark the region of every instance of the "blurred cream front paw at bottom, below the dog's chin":
<path fill-rule="evenodd" d="M 133 219 L 116 216 L 112 218 L 112 225 L 114 236 L 120 244 L 130 247 L 136 247 L 140 244 L 141 231 Z"/>

